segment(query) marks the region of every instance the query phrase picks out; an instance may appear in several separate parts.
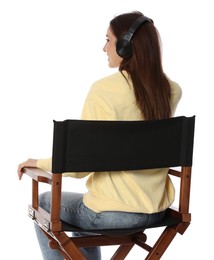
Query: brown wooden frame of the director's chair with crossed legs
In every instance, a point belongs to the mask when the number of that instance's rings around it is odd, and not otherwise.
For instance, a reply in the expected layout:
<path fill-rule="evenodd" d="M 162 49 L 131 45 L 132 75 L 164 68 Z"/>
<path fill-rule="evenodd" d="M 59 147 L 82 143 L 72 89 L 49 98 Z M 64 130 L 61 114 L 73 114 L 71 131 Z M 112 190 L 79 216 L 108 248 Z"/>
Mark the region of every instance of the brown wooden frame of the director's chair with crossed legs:
<path fill-rule="evenodd" d="M 193 120 L 194 121 L 194 120 Z M 193 122 L 194 124 L 194 122 Z M 192 126 L 194 128 L 194 125 Z M 194 129 L 193 129 L 194 133 Z M 192 147 L 193 149 L 193 133 Z M 60 220 L 60 201 L 62 190 L 62 174 L 50 174 L 36 168 L 25 168 L 24 172 L 32 178 L 32 204 L 28 207 L 29 216 L 41 228 L 49 238 L 49 246 L 57 249 L 65 259 L 84 260 L 85 256 L 79 250 L 80 247 L 111 246 L 118 245 L 118 249 L 111 259 L 125 259 L 134 245 L 146 250 L 145 259 L 160 259 L 176 234 L 183 234 L 191 222 L 189 212 L 190 187 L 192 165 L 172 167 L 169 174 L 180 179 L 179 205 L 167 210 L 166 217 L 161 223 L 149 228 L 165 227 L 161 235 L 153 245 L 146 243 L 145 228 L 122 230 L 81 230 L 69 226 Z M 39 183 L 51 185 L 51 211 L 50 213 L 39 207 Z M 68 231 L 90 232 L 85 237 L 70 237 Z"/>

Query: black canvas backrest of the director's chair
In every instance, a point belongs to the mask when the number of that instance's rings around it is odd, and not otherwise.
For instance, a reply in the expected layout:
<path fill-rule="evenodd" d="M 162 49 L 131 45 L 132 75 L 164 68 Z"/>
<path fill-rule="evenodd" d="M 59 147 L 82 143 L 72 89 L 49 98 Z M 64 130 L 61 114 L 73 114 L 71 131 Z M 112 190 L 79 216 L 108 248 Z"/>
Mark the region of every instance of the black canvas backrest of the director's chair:
<path fill-rule="evenodd" d="M 52 172 L 191 166 L 195 116 L 54 121 Z"/>

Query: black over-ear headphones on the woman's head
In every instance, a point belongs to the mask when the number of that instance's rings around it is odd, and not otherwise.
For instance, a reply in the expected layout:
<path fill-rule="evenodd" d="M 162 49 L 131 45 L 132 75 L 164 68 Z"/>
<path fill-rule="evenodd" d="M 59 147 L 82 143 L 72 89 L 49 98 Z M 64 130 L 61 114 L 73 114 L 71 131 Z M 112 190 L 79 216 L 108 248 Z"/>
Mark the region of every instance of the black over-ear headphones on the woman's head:
<path fill-rule="evenodd" d="M 153 23 L 152 19 L 146 16 L 140 16 L 130 26 L 128 32 L 123 37 L 118 39 L 116 44 L 116 51 L 120 57 L 126 59 L 132 55 L 131 39 L 134 33 L 137 31 L 138 27 L 140 27 L 140 25 L 145 22 Z"/>

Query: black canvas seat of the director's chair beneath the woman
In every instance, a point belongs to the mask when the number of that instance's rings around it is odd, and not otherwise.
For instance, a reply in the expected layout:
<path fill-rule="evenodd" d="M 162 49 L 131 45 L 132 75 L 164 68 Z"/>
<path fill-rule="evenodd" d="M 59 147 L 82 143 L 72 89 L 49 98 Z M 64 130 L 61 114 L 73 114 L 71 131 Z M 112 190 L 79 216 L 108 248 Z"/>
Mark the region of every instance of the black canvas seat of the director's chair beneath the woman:
<path fill-rule="evenodd" d="M 142 232 L 148 228 L 164 227 L 164 226 L 173 226 L 181 222 L 179 218 L 171 216 L 169 214 L 169 209 L 166 210 L 165 217 L 162 221 L 150 225 L 150 226 L 141 226 L 137 228 L 123 228 L 123 229 L 81 229 L 79 227 L 68 224 L 67 222 L 62 221 L 62 230 L 65 232 L 83 232 L 91 233 L 97 235 L 109 235 L 109 236 L 121 236 L 121 235 L 131 235 L 137 232 Z"/>

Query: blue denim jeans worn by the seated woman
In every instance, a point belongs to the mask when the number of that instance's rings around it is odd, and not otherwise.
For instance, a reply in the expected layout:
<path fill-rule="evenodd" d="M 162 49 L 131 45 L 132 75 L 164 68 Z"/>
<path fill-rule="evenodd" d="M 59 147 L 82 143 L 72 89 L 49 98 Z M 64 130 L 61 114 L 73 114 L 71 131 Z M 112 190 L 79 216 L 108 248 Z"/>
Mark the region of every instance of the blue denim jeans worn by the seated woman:
<path fill-rule="evenodd" d="M 50 192 L 42 193 L 39 197 L 40 207 L 50 211 Z M 114 228 L 135 228 L 147 227 L 159 222 L 165 212 L 155 214 L 129 213 L 119 211 L 105 211 L 96 213 L 87 208 L 83 203 L 83 194 L 73 192 L 62 192 L 61 199 L 61 220 L 83 229 L 114 229 Z M 48 246 L 48 239 L 43 232 L 35 225 L 37 238 L 44 260 L 63 260 L 64 257 L 57 250 Z M 85 233 L 73 233 L 74 236 Z M 81 248 L 87 260 L 100 260 L 101 250 L 99 247 Z"/>

